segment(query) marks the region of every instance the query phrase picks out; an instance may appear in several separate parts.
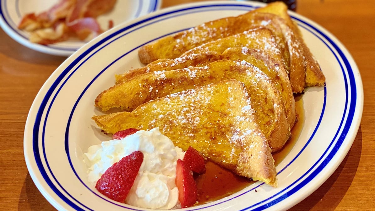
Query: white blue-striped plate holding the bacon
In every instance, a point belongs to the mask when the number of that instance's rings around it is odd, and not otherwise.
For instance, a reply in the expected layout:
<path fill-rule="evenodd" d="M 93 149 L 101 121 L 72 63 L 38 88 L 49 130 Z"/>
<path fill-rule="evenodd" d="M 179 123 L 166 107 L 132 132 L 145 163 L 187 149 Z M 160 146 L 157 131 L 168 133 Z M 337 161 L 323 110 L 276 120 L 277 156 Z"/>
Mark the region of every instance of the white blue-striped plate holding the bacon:
<path fill-rule="evenodd" d="M 0 26 L 14 40 L 22 45 L 46 54 L 70 56 L 87 42 L 71 38 L 50 45 L 31 43 L 30 33 L 17 28 L 22 17 L 28 13 L 48 10 L 58 0 L 0 0 Z M 108 21 L 114 25 L 138 18 L 159 9 L 161 0 L 118 0 L 114 9 L 97 18 L 102 29 L 108 28 Z"/>

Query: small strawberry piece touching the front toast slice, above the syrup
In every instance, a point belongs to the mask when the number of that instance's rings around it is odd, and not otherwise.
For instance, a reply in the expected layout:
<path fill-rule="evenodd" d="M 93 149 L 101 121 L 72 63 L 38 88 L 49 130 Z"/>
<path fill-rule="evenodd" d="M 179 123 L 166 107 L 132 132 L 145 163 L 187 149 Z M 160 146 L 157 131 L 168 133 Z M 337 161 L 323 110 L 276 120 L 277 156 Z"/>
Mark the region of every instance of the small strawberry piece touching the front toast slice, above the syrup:
<path fill-rule="evenodd" d="M 195 173 L 203 174 L 206 171 L 204 158 L 192 146 L 186 150 L 183 161 Z"/>

